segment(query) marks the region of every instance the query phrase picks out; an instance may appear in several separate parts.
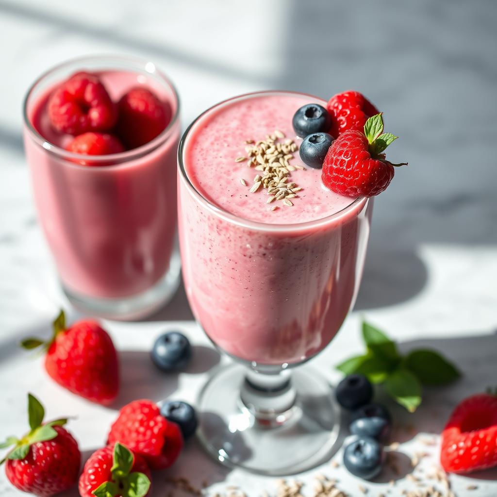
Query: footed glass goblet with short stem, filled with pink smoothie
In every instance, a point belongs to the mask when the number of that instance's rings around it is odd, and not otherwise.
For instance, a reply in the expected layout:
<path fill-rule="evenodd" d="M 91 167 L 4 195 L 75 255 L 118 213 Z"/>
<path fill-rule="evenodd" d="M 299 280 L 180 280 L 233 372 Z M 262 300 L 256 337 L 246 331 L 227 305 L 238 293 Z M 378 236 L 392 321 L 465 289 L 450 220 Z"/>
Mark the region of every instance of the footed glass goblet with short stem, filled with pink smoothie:
<path fill-rule="evenodd" d="M 217 104 L 190 125 L 178 150 L 187 296 L 208 337 L 234 359 L 201 392 L 199 436 L 222 463 L 266 475 L 309 469 L 336 442 L 339 411 L 331 386 L 310 366 L 297 366 L 330 343 L 353 305 L 373 202 L 351 199 L 311 222 L 250 221 L 206 198 L 188 161 L 210 116 L 234 102 L 286 93 L 252 93 Z"/>

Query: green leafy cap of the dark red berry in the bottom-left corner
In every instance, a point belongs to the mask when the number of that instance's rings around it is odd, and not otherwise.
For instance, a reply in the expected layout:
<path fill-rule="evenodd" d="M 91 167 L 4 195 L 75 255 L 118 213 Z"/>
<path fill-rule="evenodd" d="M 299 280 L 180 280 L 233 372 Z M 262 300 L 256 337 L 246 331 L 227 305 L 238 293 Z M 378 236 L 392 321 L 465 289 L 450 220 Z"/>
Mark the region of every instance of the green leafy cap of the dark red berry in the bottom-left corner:
<path fill-rule="evenodd" d="M 0 461 L 0 465 L 6 459 L 24 459 L 28 455 L 29 448 L 33 443 L 52 440 L 58 435 L 54 426 L 63 426 L 67 422 L 67 419 L 55 419 L 54 421 L 43 424 L 44 417 L 45 409 L 40 401 L 34 395 L 28 394 L 28 420 L 31 430 L 20 439 L 9 436 L 5 442 L 0 444 L 1 449 L 14 446 Z"/>

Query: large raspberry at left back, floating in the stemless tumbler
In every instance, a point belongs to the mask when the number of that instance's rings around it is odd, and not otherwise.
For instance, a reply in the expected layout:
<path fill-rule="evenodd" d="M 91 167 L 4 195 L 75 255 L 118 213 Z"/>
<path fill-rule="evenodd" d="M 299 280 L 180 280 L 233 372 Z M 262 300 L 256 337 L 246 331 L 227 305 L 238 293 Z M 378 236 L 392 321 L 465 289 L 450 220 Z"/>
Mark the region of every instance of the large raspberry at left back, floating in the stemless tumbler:
<path fill-rule="evenodd" d="M 76 73 L 50 96 L 48 117 L 60 133 L 80 135 L 108 131 L 116 123 L 116 107 L 105 86 L 88 73 Z"/>

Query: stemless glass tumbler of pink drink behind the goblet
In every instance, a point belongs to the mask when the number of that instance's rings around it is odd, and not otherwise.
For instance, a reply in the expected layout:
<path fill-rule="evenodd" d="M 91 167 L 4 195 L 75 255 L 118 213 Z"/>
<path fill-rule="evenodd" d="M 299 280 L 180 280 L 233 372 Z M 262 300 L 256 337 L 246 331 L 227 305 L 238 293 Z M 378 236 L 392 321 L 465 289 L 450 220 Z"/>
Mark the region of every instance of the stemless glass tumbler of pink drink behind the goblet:
<path fill-rule="evenodd" d="M 130 88 L 150 89 L 170 110 L 166 129 L 122 153 L 90 157 L 65 150 L 71 137 L 51 128 L 47 101 L 59 84 L 80 71 L 96 74 L 114 101 Z M 72 60 L 42 75 L 28 90 L 24 146 L 38 218 L 63 289 L 83 311 L 135 319 L 163 305 L 176 290 L 179 133 L 176 90 L 145 60 Z"/>

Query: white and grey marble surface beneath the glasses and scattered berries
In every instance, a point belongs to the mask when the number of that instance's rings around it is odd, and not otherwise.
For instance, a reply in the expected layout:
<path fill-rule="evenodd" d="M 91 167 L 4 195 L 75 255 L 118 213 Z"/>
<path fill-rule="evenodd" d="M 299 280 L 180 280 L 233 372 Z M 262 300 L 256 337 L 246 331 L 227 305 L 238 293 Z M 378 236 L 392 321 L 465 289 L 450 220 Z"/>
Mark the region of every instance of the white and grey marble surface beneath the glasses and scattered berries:
<path fill-rule="evenodd" d="M 0 436 L 23 432 L 25 395 L 31 391 L 49 416 L 77 416 L 70 429 L 87 456 L 102 445 L 120 405 L 140 397 L 193 401 L 219 362 L 194 324 L 182 289 L 144 322 L 105 323 L 123 362 L 124 388 L 112 408 L 60 389 L 42 372 L 40 359 L 17 347 L 22 336 L 47 335 L 57 309 L 68 307 L 33 208 L 20 133 L 22 98 L 49 66 L 91 53 L 156 62 L 179 88 L 184 124 L 227 96 L 266 88 L 325 98 L 355 88 L 385 112 L 387 131 L 401 137 L 389 158 L 409 166 L 397 171 L 375 204 L 354 312 L 313 363 L 336 382 L 333 365 L 361 350 L 362 317 L 388 331 L 404 350 L 422 344 L 442 351 L 464 377 L 448 388 L 426 389 L 414 415 L 392 406 L 398 425 L 424 436 L 438 433 L 459 400 L 496 380 L 496 25 L 492 0 L 0 1 Z M 188 334 L 196 359 L 185 372 L 162 376 L 148 350 L 169 329 Z M 412 428 L 398 433 L 405 440 L 399 450 L 406 464 L 388 495 L 413 485 L 403 477 L 415 451 L 430 452 L 421 462 L 426 470 L 436 462 L 437 447 L 422 445 Z M 360 482 L 329 464 L 298 478 L 310 482 L 318 472 L 359 495 Z M 211 462 L 195 441 L 171 470 L 156 475 L 153 495 L 167 495 L 166 478 L 179 476 L 196 486 L 209 482 L 208 495 L 229 485 L 240 485 L 248 496 L 275 488 L 274 479 Z M 390 478 L 366 484 L 369 495 L 390 488 Z M 495 496 L 496 480 L 496 470 L 451 477 L 458 496 Z M 469 492 L 468 485 L 478 489 Z M 0 495 L 22 495 L 3 471 Z"/>

